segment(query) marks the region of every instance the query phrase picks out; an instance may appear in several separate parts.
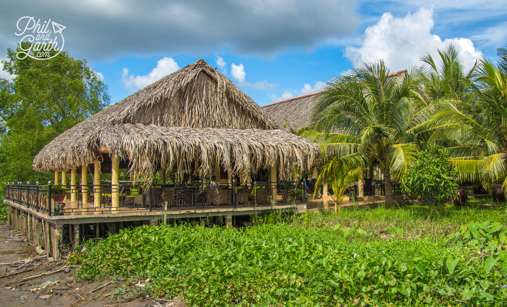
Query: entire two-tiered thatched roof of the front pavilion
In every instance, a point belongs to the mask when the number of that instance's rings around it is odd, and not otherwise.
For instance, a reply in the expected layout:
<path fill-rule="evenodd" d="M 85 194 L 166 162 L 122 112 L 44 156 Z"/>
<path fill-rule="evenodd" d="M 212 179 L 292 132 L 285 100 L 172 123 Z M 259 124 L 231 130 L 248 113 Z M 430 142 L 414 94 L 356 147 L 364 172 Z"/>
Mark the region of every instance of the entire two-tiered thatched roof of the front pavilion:
<path fill-rule="evenodd" d="M 280 129 L 249 96 L 204 60 L 165 76 L 64 131 L 35 157 L 38 171 L 78 168 L 117 155 L 135 179 L 161 166 L 180 174 L 195 161 L 232 174 L 278 165 L 309 170 L 319 146 Z"/>

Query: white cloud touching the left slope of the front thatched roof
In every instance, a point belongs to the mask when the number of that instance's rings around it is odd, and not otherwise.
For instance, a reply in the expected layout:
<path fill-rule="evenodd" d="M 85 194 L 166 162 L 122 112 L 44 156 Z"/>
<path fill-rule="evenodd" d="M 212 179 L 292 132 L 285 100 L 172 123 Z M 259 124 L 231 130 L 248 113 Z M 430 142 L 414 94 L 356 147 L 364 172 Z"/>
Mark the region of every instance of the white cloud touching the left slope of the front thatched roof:
<path fill-rule="evenodd" d="M 179 70 L 178 63 L 171 57 L 163 57 L 158 60 L 157 67 L 155 67 L 149 74 L 143 76 L 129 75 L 129 70 L 123 68 L 121 74 L 121 82 L 126 88 L 131 89 L 142 89 L 146 85 L 150 85 L 153 82 L 167 76 L 168 74 L 174 73 Z"/>

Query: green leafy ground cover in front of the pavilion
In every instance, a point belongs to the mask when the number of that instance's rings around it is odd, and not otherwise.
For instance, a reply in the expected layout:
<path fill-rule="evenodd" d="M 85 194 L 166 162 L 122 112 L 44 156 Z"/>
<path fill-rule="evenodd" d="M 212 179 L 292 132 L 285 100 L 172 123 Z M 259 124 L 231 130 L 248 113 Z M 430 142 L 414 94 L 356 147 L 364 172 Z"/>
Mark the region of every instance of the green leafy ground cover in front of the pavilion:
<path fill-rule="evenodd" d="M 261 216 L 243 229 L 121 231 L 76 253 L 76 278 L 150 278 L 187 305 L 503 305 L 505 207 Z M 490 221 L 490 222 L 473 222 Z"/>

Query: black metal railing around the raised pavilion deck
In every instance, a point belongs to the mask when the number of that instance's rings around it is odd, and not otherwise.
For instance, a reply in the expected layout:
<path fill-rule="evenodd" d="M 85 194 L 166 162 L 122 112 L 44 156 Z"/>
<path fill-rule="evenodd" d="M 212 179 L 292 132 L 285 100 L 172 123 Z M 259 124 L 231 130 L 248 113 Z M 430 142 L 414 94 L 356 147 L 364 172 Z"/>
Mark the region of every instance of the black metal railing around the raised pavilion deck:
<path fill-rule="evenodd" d="M 306 204 L 308 194 L 299 182 L 237 184 L 233 181 L 149 186 L 133 183 L 116 186 L 7 184 L 5 198 L 51 216 L 121 210 L 286 206 Z"/>

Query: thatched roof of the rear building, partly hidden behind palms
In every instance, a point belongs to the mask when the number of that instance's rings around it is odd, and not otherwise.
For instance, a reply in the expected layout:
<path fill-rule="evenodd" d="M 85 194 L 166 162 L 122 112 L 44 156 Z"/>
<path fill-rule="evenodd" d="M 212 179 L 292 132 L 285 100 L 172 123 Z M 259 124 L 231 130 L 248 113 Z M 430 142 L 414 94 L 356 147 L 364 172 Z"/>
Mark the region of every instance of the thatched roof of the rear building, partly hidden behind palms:
<path fill-rule="evenodd" d="M 402 70 L 392 73 L 389 76 L 395 77 L 405 74 L 406 72 L 406 70 Z M 319 98 L 319 94 L 323 92 L 324 91 L 285 99 L 263 105 L 261 108 L 264 112 L 271 115 L 280 126 L 298 131 L 309 126 L 315 101 Z"/>

